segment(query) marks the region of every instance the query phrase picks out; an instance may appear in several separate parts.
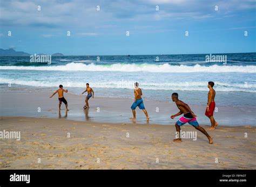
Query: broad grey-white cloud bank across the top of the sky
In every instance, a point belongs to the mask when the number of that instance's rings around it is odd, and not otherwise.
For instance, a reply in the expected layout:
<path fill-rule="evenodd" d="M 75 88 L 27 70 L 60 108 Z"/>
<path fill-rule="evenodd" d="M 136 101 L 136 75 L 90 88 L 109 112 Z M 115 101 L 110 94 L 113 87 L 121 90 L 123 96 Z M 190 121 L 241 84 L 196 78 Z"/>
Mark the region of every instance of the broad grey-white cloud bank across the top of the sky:
<path fill-rule="evenodd" d="M 202 2 L 202 0 L 9 0 L 1 1 L 0 25 L 8 28 L 24 26 L 50 30 L 86 30 L 90 32 L 78 35 L 92 36 L 98 35 L 98 30 L 104 33 L 120 33 L 129 29 L 130 25 L 145 25 L 150 21 L 152 26 L 157 25 L 157 22 L 166 25 L 179 20 L 235 19 L 241 15 L 241 11 L 256 8 L 253 0 Z M 100 11 L 96 9 L 97 5 L 100 6 Z M 159 11 L 156 11 L 156 5 L 159 5 Z M 214 11 L 215 5 L 218 5 L 218 13 Z M 41 6 L 41 11 L 38 11 L 38 6 Z"/>

